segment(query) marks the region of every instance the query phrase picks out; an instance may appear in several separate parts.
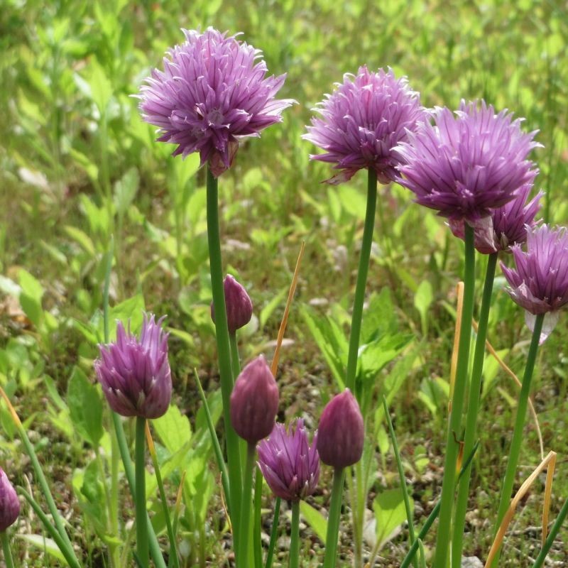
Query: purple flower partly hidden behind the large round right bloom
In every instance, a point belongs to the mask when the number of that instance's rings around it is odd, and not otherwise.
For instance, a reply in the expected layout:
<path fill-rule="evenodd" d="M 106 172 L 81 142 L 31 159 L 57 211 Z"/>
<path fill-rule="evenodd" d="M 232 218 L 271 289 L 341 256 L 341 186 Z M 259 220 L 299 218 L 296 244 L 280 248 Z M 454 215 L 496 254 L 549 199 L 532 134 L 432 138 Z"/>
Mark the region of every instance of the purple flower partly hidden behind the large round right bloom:
<path fill-rule="evenodd" d="M 527 227 L 537 225 L 535 216 L 540 211 L 540 191 L 529 202 L 531 184 L 523 185 L 515 198 L 491 211 L 491 217 L 484 217 L 476 223 L 474 229 L 475 248 L 484 254 L 498 251 L 510 251 L 513 244 L 523 244 L 527 240 Z M 464 220 L 450 219 L 449 228 L 460 239 L 464 239 Z"/>

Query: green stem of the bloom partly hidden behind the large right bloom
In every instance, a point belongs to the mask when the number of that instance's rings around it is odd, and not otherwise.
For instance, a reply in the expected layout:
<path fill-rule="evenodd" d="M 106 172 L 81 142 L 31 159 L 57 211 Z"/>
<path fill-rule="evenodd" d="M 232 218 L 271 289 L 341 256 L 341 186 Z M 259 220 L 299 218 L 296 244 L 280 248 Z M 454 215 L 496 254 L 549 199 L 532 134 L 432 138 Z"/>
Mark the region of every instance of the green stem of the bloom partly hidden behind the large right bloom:
<path fill-rule="evenodd" d="M 487 338 L 487 324 L 489 320 L 489 307 L 491 307 L 491 293 L 495 279 L 498 253 L 489 255 L 485 273 L 484 295 L 481 299 L 479 312 L 479 325 L 474 351 L 474 366 L 471 370 L 471 383 L 469 385 L 469 398 L 466 417 L 466 432 L 464 439 L 464 455 L 469 455 L 477 435 L 477 415 L 481 401 L 481 376 L 484 370 L 485 342 Z M 461 566 L 461 550 L 464 544 L 464 527 L 466 523 L 467 501 L 469 497 L 469 482 L 471 480 L 471 467 L 469 467 L 461 480 L 457 490 L 457 506 L 454 518 L 454 540 L 452 542 L 452 566 Z"/>

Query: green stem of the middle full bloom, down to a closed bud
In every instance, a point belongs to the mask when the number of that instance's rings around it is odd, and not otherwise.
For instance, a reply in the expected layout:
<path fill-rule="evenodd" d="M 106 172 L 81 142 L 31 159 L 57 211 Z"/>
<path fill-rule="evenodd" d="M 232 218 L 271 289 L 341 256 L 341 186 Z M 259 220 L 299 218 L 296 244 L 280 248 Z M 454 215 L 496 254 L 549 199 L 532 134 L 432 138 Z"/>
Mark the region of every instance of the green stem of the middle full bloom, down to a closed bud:
<path fill-rule="evenodd" d="M 359 336 L 361 335 L 361 318 L 363 317 L 363 303 L 367 284 L 368 263 L 371 258 L 371 244 L 373 243 L 373 229 L 375 226 L 375 212 L 377 203 L 377 174 L 374 168 L 368 168 L 367 180 L 367 208 L 363 240 L 361 241 L 361 256 L 359 257 L 359 270 L 355 285 L 355 299 L 353 302 L 353 315 L 351 316 L 351 334 L 349 336 L 349 356 L 347 357 L 347 374 L 345 386 L 356 393 L 355 377 L 357 373 L 357 359 L 359 355 Z"/>

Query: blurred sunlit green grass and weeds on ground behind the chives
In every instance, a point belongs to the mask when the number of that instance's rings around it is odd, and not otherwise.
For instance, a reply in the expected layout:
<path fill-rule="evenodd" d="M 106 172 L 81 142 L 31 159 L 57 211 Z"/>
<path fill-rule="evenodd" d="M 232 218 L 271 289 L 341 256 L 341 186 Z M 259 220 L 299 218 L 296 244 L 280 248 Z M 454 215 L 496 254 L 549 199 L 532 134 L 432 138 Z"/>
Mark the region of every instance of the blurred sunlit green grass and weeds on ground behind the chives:
<path fill-rule="evenodd" d="M 567 222 L 568 70 L 563 65 L 563 38 L 568 24 L 562 3 L 395 0 L 376 4 L 363 0 L 197 0 L 190 7 L 171 0 L 142 4 L 60 0 L 47 6 L 37 0 L 24 6 L 16 0 L 5 3 L 0 14 L 0 129 L 4 134 L 0 144 L 0 383 L 13 396 L 22 419 L 29 420 L 28 432 L 56 488 L 56 501 L 70 506 L 72 537 L 80 543 L 87 566 L 104 565 L 100 531 L 94 523 L 98 513 L 89 516 L 93 501 L 81 497 L 93 488 L 84 484 L 84 478 L 93 474 L 89 464 L 94 454 L 73 431 L 65 402 L 60 404 L 57 395 L 65 397 L 75 366 L 94 380 L 91 361 L 97 340 L 87 338 L 82 329 L 89 322 L 97 328 L 104 251 L 111 233 L 118 258 L 111 303 L 119 305 L 138 294 L 146 307 L 168 313 L 168 326 L 178 330 L 170 342 L 175 402 L 187 414 L 194 438 L 200 439 L 200 428 L 205 429 L 203 421 L 198 423 L 200 403 L 192 369 L 198 368 L 211 396 L 218 387 L 209 320 L 204 172 L 194 176 L 195 160 L 173 160 L 169 156 L 173 148 L 154 143 L 153 128 L 141 122 L 136 99 L 130 97 L 151 67 L 160 64 L 168 45 L 182 39 L 180 27 L 213 25 L 231 33 L 242 31 L 247 42 L 263 49 L 271 72 L 288 73 L 282 97 L 299 102 L 285 113 L 283 125 L 241 146 L 234 168 L 219 183 L 224 259 L 256 306 L 256 324 L 241 334 L 244 359 L 262 351 L 271 354 L 268 342 L 278 332 L 285 295 L 271 302 L 288 288 L 300 243 L 306 241 L 288 324 L 287 337 L 293 344 L 281 355 L 280 418 L 305 413 L 315 425 L 335 388 L 300 306 L 311 303 L 317 314 L 337 316 L 345 330 L 349 322 L 345 310 L 354 291 L 365 176 L 356 175 L 337 188 L 321 185 L 329 170 L 309 163 L 308 154 L 314 148 L 300 139 L 310 108 L 344 72 L 356 72 L 363 64 L 391 65 L 398 75 L 408 75 L 427 106 L 457 107 L 461 98 L 484 97 L 498 109 L 506 107 L 524 116 L 525 128 L 538 129 L 537 140 L 545 146 L 534 155 L 540 167 L 536 185 L 547 192 L 542 214 L 550 222 Z M 419 526 L 439 495 L 444 382 L 453 339 L 454 286 L 463 271 L 462 244 L 448 236 L 440 219 L 412 204 L 402 188 L 380 191 L 386 223 L 381 227 L 377 221 L 376 230 L 391 239 L 392 258 L 386 261 L 385 251 L 376 245 L 368 290 L 391 290 L 398 331 L 413 334 L 420 345 L 415 364 L 391 403 L 406 474 L 420 505 L 415 513 Z M 114 208 L 111 223 L 109 204 Z M 22 280 L 22 268 L 33 280 Z M 478 290 L 483 273 L 484 266 L 479 266 Z M 425 310 L 426 324 L 415 307 L 415 295 L 424 281 L 433 290 Z M 11 293 L 13 283 L 23 289 L 19 299 Z M 503 280 L 498 278 L 488 338 L 496 349 L 506 351 L 508 365 L 520 374 L 529 332 L 502 287 Z M 567 340 L 565 320 L 561 320 L 540 350 L 532 390 L 545 449 L 559 454 L 554 510 L 568 494 L 562 474 L 568 450 L 562 435 L 568 410 Z M 391 367 L 378 371 L 378 384 Z M 493 375 L 486 368 L 481 446 L 472 478 L 477 489 L 471 492 L 469 532 L 464 540 L 466 552 L 482 558 L 491 545 L 494 496 L 504 471 L 511 401 L 516 397 L 503 373 Z M 4 426 L 1 464 L 18 472 L 15 481 L 26 486 L 23 476 L 29 474 L 29 466 L 4 410 L 0 420 Z M 526 432 L 520 463 L 528 475 L 538 461 L 538 444 L 530 426 Z M 160 440 L 158 449 L 163 449 L 162 459 L 167 461 L 169 450 Z M 108 449 L 108 440 L 102 444 Z M 207 488 L 204 496 L 218 503 L 214 473 L 203 459 L 209 450 L 200 451 L 199 442 L 190 450 L 194 463 L 200 465 L 186 482 L 186 501 L 195 497 L 195 488 L 202 483 Z M 378 456 L 371 497 L 398 486 L 395 471 L 390 458 Z M 315 501 L 318 506 L 327 506 L 326 476 L 322 495 Z M 179 482 L 180 471 L 175 470 L 167 480 L 171 496 Z M 536 556 L 539 535 L 532 527 L 539 523 L 541 495 L 540 489 L 533 491 L 518 511 L 503 554 L 504 567 L 524 566 L 527 556 Z M 124 505 L 129 508 L 128 503 Z M 208 508 L 208 498 L 198 505 L 200 510 L 187 508 L 180 520 L 182 540 L 190 547 L 186 565 L 225 554 L 226 527 L 219 507 Z M 159 506 L 155 500 L 156 511 Z M 201 518 L 207 519 L 207 525 L 203 550 L 197 550 L 193 530 Z M 31 528 L 38 532 L 35 520 Z M 126 529 L 121 528 L 123 537 Z M 307 535 L 312 532 L 306 530 Z M 432 545 L 432 538 L 433 533 L 426 547 Z M 20 557 L 29 555 L 28 565 L 46 565 L 40 548 L 16 542 Z M 344 542 L 348 544 L 349 538 Z M 395 566 L 405 542 L 405 535 L 400 535 L 388 543 L 377 565 Z M 562 561 L 568 557 L 568 547 L 559 546 L 551 557 Z M 53 558 L 45 562 L 57 565 Z M 305 562 L 315 565 L 307 557 Z"/>

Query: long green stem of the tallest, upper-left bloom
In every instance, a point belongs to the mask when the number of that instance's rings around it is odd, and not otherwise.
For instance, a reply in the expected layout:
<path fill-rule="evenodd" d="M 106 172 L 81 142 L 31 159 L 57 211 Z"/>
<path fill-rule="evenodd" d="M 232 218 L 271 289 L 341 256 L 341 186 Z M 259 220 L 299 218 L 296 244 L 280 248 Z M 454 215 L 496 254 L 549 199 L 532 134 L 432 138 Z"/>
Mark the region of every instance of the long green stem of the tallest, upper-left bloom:
<path fill-rule="evenodd" d="M 231 424 L 231 391 L 233 389 L 233 374 L 231 370 L 231 349 L 229 346 L 229 329 L 226 322 L 225 292 L 223 286 L 223 271 L 221 262 L 221 243 L 219 240 L 219 210 L 218 210 L 217 179 L 207 168 L 207 241 L 209 244 L 209 269 L 211 271 L 211 288 L 215 310 L 215 329 L 217 337 L 217 354 L 219 357 L 219 376 L 223 398 L 223 420 L 226 432 L 226 452 L 229 466 L 229 488 L 231 490 L 231 516 L 233 530 L 238 542 L 238 532 L 235 521 L 241 514 L 241 456 L 239 453 L 239 437 Z"/>

